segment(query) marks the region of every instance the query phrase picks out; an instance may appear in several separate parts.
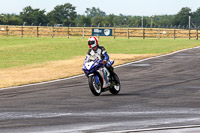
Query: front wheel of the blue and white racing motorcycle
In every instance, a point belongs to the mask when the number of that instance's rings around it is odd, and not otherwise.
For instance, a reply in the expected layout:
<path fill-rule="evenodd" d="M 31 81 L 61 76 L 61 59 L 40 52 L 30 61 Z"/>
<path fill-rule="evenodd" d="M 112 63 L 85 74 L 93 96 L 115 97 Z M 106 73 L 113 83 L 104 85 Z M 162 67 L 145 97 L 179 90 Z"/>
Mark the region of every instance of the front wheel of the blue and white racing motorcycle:
<path fill-rule="evenodd" d="M 98 84 L 96 83 L 94 75 L 89 76 L 88 82 L 92 94 L 94 94 L 95 96 L 99 96 L 101 94 L 101 82 L 99 80 L 99 77 L 98 77 L 98 82 L 99 82 Z"/>

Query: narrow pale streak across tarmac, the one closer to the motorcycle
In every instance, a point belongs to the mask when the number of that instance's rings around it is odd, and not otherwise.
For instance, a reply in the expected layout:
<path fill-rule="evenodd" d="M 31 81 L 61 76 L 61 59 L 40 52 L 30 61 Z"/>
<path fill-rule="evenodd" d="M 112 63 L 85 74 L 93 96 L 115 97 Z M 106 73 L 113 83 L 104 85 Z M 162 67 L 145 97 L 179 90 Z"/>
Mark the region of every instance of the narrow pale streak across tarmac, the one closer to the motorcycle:
<path fill-rule="evenodd" d="M 153 115 L 200 115 L 199 109 L 182 108 L 152 111 L 113 111 L 106 112 L 2 112 L 0 120 L 12 119 L 41 119 L 41 118 L 57 118 L 57 117 L 132 117 L 132 116 L 153 116 Z"/>

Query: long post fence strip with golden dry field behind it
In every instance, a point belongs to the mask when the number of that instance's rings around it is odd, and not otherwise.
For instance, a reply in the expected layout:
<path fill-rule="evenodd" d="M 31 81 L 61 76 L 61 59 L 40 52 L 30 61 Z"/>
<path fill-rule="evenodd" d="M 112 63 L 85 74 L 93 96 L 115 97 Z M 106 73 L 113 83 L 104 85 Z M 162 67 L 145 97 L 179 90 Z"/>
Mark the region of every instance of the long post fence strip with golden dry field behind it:
<path fill-rule="evenodd" d="M 196 39 L 199 38 L 199 29 L 181 29 L 180 27 L 130 27 L 130 26 L 114 26 L 114 27 L 64 27 L 63 25 L 58 26 L 10 26 L 0 25 L 0 36 L 20 36 L 20 37 L 88 37 L 92 35 L 92 29 L 112 29 L 112 36 L 116 37 L 127 37 L 127 38 L 188 38 Z"/>

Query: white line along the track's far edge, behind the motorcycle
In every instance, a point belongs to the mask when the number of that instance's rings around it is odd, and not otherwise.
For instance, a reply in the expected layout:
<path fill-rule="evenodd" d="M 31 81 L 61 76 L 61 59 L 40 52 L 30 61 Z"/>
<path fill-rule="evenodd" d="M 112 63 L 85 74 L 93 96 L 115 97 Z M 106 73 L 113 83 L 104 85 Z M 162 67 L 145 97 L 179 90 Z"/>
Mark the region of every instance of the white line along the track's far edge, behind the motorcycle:
<path fill-rule="evenodd" d="M 196 48 L 200 48 L 200 46 L 197 46 L 197 47 L 194 47 L 194 48 L 188 48 L 188 49 L 175 51 L 175 52 L 172 52 L 172 53 L 169 53 L 169 54 L 165 54 L 165 55 L 159 55 L 159 56 L 154 56 L 154 57 L 150 57 L 150 58 L 146 58 L 146 59 L 142 59 L 142 60 L 138 60 L 138 61 L 129 62 L 129 63 L 126 63 L 126 64 L 115 66 L 114 68 L 123 67 L 123 66 L 127 66 L 127 65 L 130 65 L 130 64 L 133 64 L 133 63 L 139 63 L 139 62 L 143 62 L 143 61 L 146 61 L 146 60 L 155 59 L 155 58 L 159 58 L 159 57 L 169 56 L 169 55 L 173 55 L 173 54 L 176 54 L 176 53 L 179 53 L 179 52 L 183 52 L 183 51 L 191 50 L 191 49 L 196 49 Z M 42 85 L 42 84 L 48 84 L 48 83 L 54 83 L 54 82 L 58 82 L 58 81 L 64 81 L 64 80 L 69 80 L 69 79 L 82 77 L 84 75 L 85 74 L 81 74 L 81 75 L 77 75 L 77 76 L 73 76 L 73 77 L 57 79 L 57 80 L 52 80 L 52 81 L 46 81 L 46 82 L 41 82 L 41 83 L 33 83 L 33 84 L 27 84 L 27 85 L 15 86 L 15 87 L 0 88 L 0 91 L 1 90 L 8 90 L 8 89 L 15 89 L 15 88 L 28 87 L 28 86 Z"/>

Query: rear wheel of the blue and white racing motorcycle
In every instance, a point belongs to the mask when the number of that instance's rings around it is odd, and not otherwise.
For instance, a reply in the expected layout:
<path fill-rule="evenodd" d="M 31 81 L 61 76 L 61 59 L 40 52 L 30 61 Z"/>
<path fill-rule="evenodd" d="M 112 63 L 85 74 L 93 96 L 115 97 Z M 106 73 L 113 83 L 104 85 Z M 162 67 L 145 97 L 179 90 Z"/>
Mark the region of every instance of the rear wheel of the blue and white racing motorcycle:
<path fill-rule="evenodd" d="M 110 92 L 114 95 L 118 94 L 120 92 L 121 89 L 121 85 L 120 85 L 120 81 L 119 81 L 119 77 L 117 76 L 116 73 L 113 73 L 112 75 L 112 81 L 115 82 L 114 86 L 112 88 L 110 88 Z"/>

